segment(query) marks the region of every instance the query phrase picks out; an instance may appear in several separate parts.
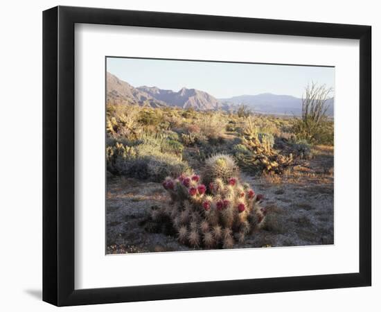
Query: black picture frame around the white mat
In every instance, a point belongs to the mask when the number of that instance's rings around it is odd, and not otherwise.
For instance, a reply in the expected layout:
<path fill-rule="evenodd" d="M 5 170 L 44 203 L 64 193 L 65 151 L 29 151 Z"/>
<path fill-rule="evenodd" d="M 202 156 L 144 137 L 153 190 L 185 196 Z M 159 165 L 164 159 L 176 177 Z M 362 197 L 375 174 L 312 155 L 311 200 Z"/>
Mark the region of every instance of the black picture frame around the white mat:
<path fill-rule="evenodd" d="M 333 275 L 74 289 L 74 25 L 360 40 L 360 268 Z M 57 306 L 371 286 L 371 26 L 57 6 L 43 12 L 43 300 Z"/>

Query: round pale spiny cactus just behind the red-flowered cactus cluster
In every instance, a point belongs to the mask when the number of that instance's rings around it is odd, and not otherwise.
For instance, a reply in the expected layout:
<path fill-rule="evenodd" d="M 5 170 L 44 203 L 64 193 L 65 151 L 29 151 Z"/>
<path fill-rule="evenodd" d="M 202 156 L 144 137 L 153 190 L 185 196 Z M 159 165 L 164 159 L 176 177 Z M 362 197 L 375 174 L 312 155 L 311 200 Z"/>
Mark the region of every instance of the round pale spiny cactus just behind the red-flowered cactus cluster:
<path fill-rule="evenodd" d="M 204 184 L 209 185 L 213 180 L 220 178 L 222 182 L 227 183 L 231 177 L 236 177 L 239 173 L 240 169 L 233 157 L 217 154 L 206 159 L 203 182 Z"/>

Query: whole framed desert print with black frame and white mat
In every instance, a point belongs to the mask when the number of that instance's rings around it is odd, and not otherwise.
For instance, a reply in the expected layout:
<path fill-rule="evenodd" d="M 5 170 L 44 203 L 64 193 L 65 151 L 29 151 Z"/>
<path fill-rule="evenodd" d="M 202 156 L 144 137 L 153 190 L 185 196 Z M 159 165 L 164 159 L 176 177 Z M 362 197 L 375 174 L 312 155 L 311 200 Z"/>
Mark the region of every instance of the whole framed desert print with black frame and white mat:
<path fill-rule="evenodd" d="M 371 26 L 43 17 L 44 301 L 371 285 Z"/>

